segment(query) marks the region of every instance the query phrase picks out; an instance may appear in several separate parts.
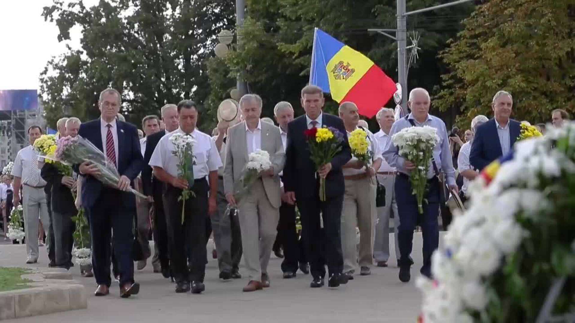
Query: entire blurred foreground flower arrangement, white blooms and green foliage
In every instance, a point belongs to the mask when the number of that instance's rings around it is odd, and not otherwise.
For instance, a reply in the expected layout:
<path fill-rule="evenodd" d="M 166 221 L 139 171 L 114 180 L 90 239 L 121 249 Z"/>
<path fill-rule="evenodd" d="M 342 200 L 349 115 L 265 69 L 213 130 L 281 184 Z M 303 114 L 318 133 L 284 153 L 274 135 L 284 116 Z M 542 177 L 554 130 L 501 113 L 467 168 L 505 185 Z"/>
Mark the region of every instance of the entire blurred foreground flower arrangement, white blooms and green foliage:
<path fill-rule="evenodd" d="M 432 256 L 434 280 L 417 279 L 420 320 L 533 322 L 555 279 L 575 275 L 575 124 L 518 141 L 469 189 Z M 573 312 L 573 295 L 567 280 L 553 312 Z"/>

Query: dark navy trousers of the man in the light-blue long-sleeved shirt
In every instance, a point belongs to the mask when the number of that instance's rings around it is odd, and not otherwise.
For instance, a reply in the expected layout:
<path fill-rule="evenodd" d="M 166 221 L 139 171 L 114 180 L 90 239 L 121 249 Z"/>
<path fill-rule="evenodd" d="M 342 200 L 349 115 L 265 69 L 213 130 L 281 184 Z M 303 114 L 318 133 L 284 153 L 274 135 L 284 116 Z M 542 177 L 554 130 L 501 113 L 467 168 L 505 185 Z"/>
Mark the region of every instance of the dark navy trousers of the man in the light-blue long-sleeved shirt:
<path fill-rule="evenodd" d="M 397 212 L 400 225 L 398 228 L 399 266 L 411 266 L 409 256 L 413 248 L 413 230 L 419 223 L 423 233 L 423 267 L 422 273 L 431 273 L 431 255 L 439 245 L 439 180 L 434 177 L 427 181 L 427 191 L 423 202 L 423 214 L 417 209 L 417 199 L 412 194 L 411 182 L 407 175 L 398 175 L 395 183 Z M 419 221 L 418 221 L 419 218 Z"/>

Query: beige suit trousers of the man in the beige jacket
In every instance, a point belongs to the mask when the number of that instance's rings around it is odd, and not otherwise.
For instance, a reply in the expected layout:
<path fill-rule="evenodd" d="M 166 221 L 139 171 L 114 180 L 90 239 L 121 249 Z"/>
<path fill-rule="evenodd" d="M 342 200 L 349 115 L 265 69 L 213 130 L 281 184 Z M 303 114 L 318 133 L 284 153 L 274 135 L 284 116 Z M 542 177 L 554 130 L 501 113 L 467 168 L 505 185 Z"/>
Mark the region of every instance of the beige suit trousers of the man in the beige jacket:
<path fill-rule="evenodd" d="M 261 281 L 262 273 L 267 274 L 277 234 L 279 209 L 271 206 L 261 179 L 241 199 L 238 209 L 244 264 L 250 280 Z"/>

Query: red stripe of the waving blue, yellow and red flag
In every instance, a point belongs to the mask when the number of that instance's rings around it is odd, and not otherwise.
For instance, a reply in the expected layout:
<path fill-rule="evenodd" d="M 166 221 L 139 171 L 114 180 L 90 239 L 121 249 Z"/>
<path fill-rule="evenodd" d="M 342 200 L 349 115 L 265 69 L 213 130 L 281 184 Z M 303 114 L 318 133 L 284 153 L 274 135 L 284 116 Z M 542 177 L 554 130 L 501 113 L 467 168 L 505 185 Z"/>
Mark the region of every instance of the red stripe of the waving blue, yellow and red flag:
<path fill-rule="evenodd" d="M 388 103 L 395 91 L 395 82 L 374 65 L 351 88 L 342 102 L 354 102 L 358 106 L 359 114 L 371 118 Z"/>

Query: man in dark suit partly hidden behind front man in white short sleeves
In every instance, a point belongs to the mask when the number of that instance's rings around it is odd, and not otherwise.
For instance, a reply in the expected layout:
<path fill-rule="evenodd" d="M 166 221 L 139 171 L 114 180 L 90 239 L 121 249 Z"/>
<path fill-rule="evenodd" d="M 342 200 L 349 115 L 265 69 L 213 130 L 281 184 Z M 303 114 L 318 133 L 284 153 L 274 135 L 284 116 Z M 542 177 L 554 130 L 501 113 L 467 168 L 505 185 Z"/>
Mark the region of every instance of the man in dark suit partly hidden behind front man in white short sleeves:
<path fill-rule="evenodd" d="M 166 214 L 164 213 L 164 205 L 162 202 L 164 184 L 152 176 L 152 167 L 148 165 L 150 158 L 158 142 L 166 133 L 173 132 L 178 129 L 178 106 L 175 104 L 167 104 L 162 107 L 162 121 L 166 127 L 157 133 L 151 134 L 147 139 L 144 152 L 144 168 L 142 169 L 142 186 L 144 195 L 152 197 L 154 201 L 154 258 L 152 264 L 155 263 L 156 258 L 160 262 L 162 268 L 162 275 L 165 278 L 170 277 L 170 259 L 168 256 L 168 232 L 166 228 Z"/>

